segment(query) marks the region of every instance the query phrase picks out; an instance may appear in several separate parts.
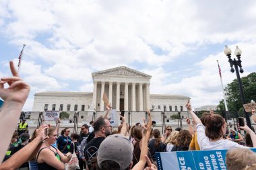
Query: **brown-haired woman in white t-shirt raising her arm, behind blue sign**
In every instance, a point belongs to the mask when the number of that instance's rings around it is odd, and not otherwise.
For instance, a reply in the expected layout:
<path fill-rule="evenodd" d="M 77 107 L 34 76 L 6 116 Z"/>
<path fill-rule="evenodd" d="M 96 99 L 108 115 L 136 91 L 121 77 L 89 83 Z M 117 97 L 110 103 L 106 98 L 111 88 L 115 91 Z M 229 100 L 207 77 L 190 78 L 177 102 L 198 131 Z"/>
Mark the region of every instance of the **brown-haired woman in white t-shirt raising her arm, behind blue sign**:
<path fill-rule="evenodd" d="M 226 134 L 226 122 L 222 116 L 218 114 L 205 116 L 205 126 L 203 126 L 201 120 L 192 111 L 189 101 L 186 104 L 186 108 L 195 121 L 195 124 L 197 124 L 197 142 L 201 150 L 245 148 L 245 146 L 223 138 L 224 134 Z M 253 130 L 251 130 L 247 125 L 241 126 L 240 128 L 251 135 L 253 146 L 256 147 L 256 134 Z"/>

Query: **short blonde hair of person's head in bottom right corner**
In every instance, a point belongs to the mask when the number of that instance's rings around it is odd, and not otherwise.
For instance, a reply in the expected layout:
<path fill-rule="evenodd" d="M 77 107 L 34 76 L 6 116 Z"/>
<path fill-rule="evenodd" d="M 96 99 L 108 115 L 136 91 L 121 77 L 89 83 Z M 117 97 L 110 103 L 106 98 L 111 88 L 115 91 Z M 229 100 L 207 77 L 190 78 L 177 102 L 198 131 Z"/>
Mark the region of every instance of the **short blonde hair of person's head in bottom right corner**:
<path fill-rule="evenodd" d="M 256 153 L 248 148 L 235 148 L 226 153 L 227 169 L 240 170 L 256 161 Z"/>

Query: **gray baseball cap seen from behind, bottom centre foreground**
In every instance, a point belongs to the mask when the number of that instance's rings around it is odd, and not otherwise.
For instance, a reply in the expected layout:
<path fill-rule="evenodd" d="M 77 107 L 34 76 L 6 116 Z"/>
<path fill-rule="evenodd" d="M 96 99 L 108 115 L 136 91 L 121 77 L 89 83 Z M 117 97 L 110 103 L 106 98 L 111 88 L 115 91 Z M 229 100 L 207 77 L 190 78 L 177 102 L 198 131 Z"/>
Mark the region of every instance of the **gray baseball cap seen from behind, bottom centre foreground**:
<path fill-rule="evenodd" d="M 122 134 L 113 134 L 106 137 L 98 148 L 97 163 L 101 167 L 103 161 L 115 161 L 120 170 L 129 167 L 133 160 L 133 144 Z"/>

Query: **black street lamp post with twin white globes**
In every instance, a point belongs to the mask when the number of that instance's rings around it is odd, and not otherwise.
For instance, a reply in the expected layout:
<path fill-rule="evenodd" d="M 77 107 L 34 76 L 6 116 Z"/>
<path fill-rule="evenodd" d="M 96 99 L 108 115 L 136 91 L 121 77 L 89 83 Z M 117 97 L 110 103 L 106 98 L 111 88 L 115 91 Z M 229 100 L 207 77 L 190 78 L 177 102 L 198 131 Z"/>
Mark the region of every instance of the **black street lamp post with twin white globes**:
<path fill-rule="evenodd" d="M 242 60 L 241 60 L 242 51 L 241 51 L 240 48 L 238 48 L 238 46 L 236 46 L 236 50 L 234 50 L 234 55 L 237 57 L 237 60 L 236 60 L 236 58 L 234 58 L 234 60 L 231 59 L 231 50 L 230 50 L 230 48 L 228 48 L 228 46 L 225 47 L 224 53 L 226 54 L 226 56 L 228 56 L 228 62 L 230 63 L 230 67 L 231 67 L 230 71 L 232 73 L 234 73 L 234 70 L 236 71 L 237 83 L 238 83 L 242 103 L 246 104 L 245 103 L 245 94 L 244 94 L 244 91 L 243 91 L 243 85 L 242 85 L 241 78 L 240 78 L 240 75 L 239 75 L 239 72 L 238 72 L 238 67 L 240 67 L 240 73 L 244 72 L 243 69 L 242 69 L 242 64 L 241 64 L 241 62 L 242 62 Z M 234 68 L 233 68 L 233 66 L 234 66 Z M 243 108 L 243 111 L 244 111 L 244 114 L 245 114 L 247 126 L 249 126 L 249 128 L 251 128 L 251 120 L 250 120 L 249 114 L 247 112 L 245 112 L 245 108 Z"/>

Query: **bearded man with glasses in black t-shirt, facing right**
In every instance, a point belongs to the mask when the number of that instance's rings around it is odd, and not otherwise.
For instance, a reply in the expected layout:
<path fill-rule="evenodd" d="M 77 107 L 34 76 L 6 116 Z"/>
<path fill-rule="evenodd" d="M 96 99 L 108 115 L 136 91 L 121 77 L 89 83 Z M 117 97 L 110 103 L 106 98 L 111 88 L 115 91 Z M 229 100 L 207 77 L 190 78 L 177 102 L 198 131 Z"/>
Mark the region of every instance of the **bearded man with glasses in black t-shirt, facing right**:
<path fill-rule="evenodd" d="M 88 142 L 84 149 L 84 156 L 86 158 L 86 167 L 88 169 L 96 169 L 96 155 L 101 142 L 106 136 L 111 134 L 110 122 L 106 118 L 98 118 L 94 122 L 94 138 Z"/>

